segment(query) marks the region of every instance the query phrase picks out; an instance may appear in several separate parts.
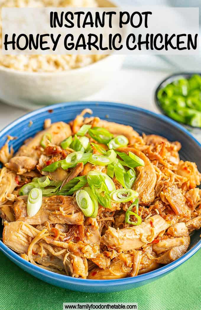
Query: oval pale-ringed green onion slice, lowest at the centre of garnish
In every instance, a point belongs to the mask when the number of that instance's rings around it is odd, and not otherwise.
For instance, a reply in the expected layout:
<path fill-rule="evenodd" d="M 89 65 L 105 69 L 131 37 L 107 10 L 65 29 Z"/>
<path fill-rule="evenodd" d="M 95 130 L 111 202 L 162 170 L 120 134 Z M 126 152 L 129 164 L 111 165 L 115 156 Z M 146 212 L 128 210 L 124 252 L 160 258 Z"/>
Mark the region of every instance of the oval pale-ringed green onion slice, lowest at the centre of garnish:
<path fill-rule="evenodd" d="M 91 216 L 94 213 L 94 204 L 89 194 L 84 189 L 79 189 L 75 195 L 77 205 L 85 216 Z"/>

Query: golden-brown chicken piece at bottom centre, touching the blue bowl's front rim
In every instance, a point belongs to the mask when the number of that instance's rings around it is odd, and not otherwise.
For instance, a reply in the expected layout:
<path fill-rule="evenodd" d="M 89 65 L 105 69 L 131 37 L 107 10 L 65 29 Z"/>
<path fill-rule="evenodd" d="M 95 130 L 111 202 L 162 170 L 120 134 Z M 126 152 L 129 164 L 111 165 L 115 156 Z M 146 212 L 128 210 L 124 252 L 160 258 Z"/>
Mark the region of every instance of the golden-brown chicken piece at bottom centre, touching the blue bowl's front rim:
<path fill-rule="evenodd" d="M 127 267 L 123 261 L 112 262 L 108 268 L 96 268 L 89 272 L 87 279 L 111 280 L 128 277 L 132 267 Z"/>

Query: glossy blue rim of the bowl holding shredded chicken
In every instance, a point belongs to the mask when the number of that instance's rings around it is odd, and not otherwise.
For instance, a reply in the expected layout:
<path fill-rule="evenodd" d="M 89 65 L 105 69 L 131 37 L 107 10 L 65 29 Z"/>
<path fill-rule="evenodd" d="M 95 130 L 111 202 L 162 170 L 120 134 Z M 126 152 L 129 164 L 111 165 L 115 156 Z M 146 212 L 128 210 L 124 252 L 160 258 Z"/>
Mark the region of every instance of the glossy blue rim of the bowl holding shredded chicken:
<path fill-rule="evenodd" d="M 33 117 L 39 113 L 46 112 L 49 109 L 58 109 L 58 108 L 65 108 L 73 105 L 82 105 L 82 104 L 87 104 L 87 103 L 94 103 L 94 104 L 101 104 L 101 105 L 110 105 L 111 107 L 121 107 L 125 110 L 131 109 L 132 111 L 139 111 L 142 113 L 145 113 L 147 115 L 153 116 L 155 118 L 158 118 L 166 123 L 169 123 L 170 125 L 173 125 L 176 127 L 179 131 L 182 131 L 186 133 L 191 139 L 193 139 L 196 144 L 201 148 L 201 144 L 180 124 L 177 122 L 171 120 L 170 118 L 164 116 L 164 115 L 159 115 L 154 112 L 148 111 L 143 108 L 138 108 L 134 107 L 132 105 L 128 104 L 121 104 L 121 103 L 112 103 L 112 102 L 101 102 L 101 101 L 75 101 L 75 102 L 67 102 L 67 103 L 60 103 L 60 104 L 53 104 L 49 105 L 40 109 L 37 109 L 33 112 L 27 113 L 22 117 L 19 117 L 16 119 L 14 122 L 10 123 L 10 125 L 6 126 L 2 131 L 0 131 L 0 138 L 4 133 L 8 130 L 10 130 L 13 126 L 19 124 L 20 122 L 25 121 L 28 117 Z M 91 280 L 91 279 L 80 279 L 80 278 L 73 278 L 65 275 L 61 275 L 52 271 L 48 271 L 45 269 L 42 269 L 38 266 L 35 266 L 31 264 L 30 262 L 27 262 L 25 259 L 20 257 L 18 254 L 16 254 L 14 251 L 10 250 L 2 241 L 0 241 L 0 250 L 11 260 L 13 261 L 18 261 L 20 265 L 24 265 L 27 269 L 32 269 L 33 272 L 36 274 L 41 274 L 44 275 L 46 278 L 54 278 L 55 280 L 58 280 L 58 282 L 65 282 L 73 285 L 80 285 L 80 286 L 90 286 L 90 287 L 107 287 L 107 286 L 119 286 L 119 285 L 128 285 L 128 284 L 134 284 L 134 283 L 139 283 L 143 281 L 147 281 L 149 279 L 154 279 L 156 277 L 160 277 L 161 275 L 165 275 L 166 273 L 173 271 L 175 268 L 177 268 L 179 265 L 184 263 L 187 259 L 191 258 L 199 249 L 201 248 L 201 240 L 199 240 L 195 246 L 193 246 L 188 252 L 186 252 L 182 257 L 179 259 L 175 260 L 172 263 L 169 263 L 161 268 L 158 268 L 156 270 L 153 270 L 148 273 L 144 273 L 141 275 L 138 275 L 136 277 L 129 277 L 129 278 L 123 278 L 123 279 L 115 279 L 115 280 Z"/>

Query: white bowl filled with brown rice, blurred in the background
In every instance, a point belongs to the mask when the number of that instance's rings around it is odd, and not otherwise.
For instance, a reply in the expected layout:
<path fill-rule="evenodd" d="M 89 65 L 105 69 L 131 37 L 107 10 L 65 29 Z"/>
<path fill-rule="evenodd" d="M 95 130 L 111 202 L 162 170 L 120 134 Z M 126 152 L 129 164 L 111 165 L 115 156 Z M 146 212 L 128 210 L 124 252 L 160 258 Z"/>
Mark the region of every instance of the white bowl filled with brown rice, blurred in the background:
<path fill-rule="evenodd" d="M 1 3 L 0 11 L 2 7 L 115 7 L 115 4 L 107 0 L 6 0 Z M 27 109 L 78 100 L 106 85 L 123 60 L 124 55 L 2 55 L 1 50 L 0 100 Z"/>

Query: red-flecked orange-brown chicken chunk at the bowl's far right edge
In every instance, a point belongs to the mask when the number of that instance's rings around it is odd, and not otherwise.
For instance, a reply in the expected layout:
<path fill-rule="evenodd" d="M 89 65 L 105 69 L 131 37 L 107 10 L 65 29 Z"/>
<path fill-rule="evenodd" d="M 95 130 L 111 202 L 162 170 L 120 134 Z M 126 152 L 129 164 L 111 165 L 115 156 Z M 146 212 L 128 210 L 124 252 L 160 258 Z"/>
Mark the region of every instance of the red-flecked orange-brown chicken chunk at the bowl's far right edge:
<path fill-rule="evenodd" d="M 182 175 L 188 179 L 188 181 L 186 182 L 187 189 L 195 188 L 196 185 L 200 185 L 201 174 L 198 171 L 195 162 L 183 162 L 181 160 L 175 173 L 177 173 L 178 175 Z"/>

